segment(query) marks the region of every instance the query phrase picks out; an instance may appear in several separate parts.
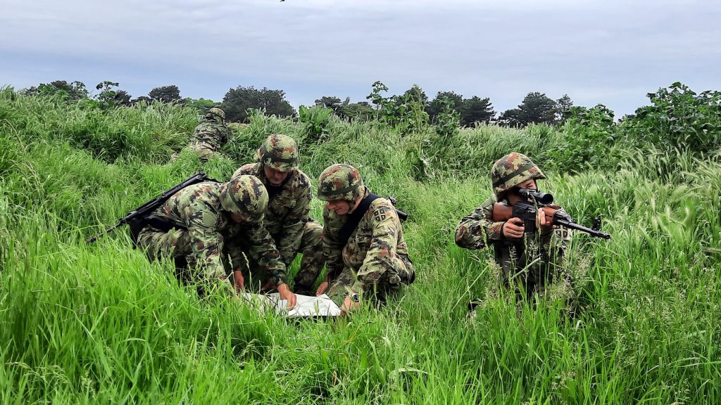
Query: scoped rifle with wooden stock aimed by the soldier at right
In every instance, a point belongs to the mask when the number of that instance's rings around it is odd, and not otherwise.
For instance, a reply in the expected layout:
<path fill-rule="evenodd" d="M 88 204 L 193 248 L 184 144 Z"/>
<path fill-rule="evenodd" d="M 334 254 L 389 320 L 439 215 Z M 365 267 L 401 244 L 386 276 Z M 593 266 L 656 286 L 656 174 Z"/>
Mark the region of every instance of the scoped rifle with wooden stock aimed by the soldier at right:
<path fill-rule="evenodd" d="M 611 235 L 601 232 L 600 218 L 596 218 L 596 225 L 593 228 L 575 223 L 570 215 L 559 211 L 561 207 L 553 204 L 553 195 L 548 192 L 535 192 L 526 189 L 519 189 L 518 195 L 526 198 L 526 201 L 519 201 L 513 207 L 503 203 L 493 205 L 493 221 L 508 221 L 510 218 L 521 218 L 523 220 L 523 233 L 536 233 L 536 213 L 543 210 L 546 218 L 552 218 L 551 223 L 564 228 L 575 229 L 588 233 L 594 238 L 611 239 Z"/>

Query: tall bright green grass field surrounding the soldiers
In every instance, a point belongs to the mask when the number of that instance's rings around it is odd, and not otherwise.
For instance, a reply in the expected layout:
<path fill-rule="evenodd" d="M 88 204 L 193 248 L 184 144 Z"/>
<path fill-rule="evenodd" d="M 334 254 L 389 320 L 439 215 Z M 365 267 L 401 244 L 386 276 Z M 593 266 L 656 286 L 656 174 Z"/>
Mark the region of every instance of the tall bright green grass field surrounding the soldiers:
<path fill-rule="evenodd" d="M 707 116 L 718 136 L 719 110 Z M 721 403 L 721 143 L 630 139 L 642 125 L 619 124 L 626 136 L 569 154 L 600 139 L 593 120 L 441 136 L 336 117 L 311 143 L 304 123 L 254 115 L 227 158 L 169 164 L 195 123 L 176 105 L 101 110 L 0 91 L 2 404 Z M 127 229 L 84 244 L 199 169 L 227 179 L 271 133 L 296 138 L 311 178 L 353 164 L 410 214 L 417 280 L 396 301 L 293 322 L 200 301 L 172 264 L 133 250 Z M 541 187 L 576 221 L 601 215 L 613 235 L 575 236 L 572 320 L 552 298 L 517 316 L 491 250 L 454 244 L 510 151 L 544 169 Z M 322 219 L 318 200 L 311 215 Z M 471 298 L 485 305 L 466 319 Z"/>

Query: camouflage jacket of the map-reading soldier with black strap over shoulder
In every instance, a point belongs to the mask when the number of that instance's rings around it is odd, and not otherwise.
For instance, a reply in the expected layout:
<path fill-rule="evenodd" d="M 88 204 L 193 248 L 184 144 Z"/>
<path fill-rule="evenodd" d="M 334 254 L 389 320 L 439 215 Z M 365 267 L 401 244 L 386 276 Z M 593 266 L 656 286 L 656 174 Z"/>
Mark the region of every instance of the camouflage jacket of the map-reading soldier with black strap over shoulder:
<path fill-rule="evenodd" d="M 368 189 L 364 197 L 369 194 Z M 412 266 L 408 245 L 403 239 L 403 228 L 393 204 L 387 198 L 373 200 L 358 227 L 343 245 L 339 233 L 347 215 L 323 210 L 323 252 L 326 255 L 327 273 L 337 277 L 344 267 L 350 267 L 358 280 L 350 287 L 360 293 L 373 288 L 386 270 L 397 272 L 397 260 Z M 408 269 L 413 272 L 412 268 Z"/>

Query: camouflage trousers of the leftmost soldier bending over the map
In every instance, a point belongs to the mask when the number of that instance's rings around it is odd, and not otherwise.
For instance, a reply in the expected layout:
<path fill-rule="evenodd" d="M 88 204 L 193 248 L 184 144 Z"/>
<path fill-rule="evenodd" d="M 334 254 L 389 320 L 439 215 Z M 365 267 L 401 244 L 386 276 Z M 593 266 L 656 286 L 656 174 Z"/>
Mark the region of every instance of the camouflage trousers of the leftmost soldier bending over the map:
<path fill-rule="evenodd" d="M 185 229 L 172 228 L 164 232 L 146 226 L 138 233 L 138 247 L 146 252 L 151 261 L 162 257 L 172 258 L 175 276 L 183 284 L 226 277 L 226 273 L 218 269 L 196 270 L 198 263 L 193 257 L 193 247 L 190 246 L 190 233 Z"/>

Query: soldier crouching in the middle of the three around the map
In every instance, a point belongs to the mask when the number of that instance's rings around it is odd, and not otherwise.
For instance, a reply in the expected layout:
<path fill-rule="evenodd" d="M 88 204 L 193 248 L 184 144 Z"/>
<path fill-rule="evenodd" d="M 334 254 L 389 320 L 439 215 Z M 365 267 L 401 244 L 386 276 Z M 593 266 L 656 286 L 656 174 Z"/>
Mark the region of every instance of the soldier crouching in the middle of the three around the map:
<path fill-rule="evenodd" d="M 280 259 L 291 266 L 296 254 L 303 254 L 293 291 L 311 295 L 311 288 L 323 270 L 323 227 L 309 217 L 310 178 L 298 169 L 298 145 L 293 138 L 273 134 L 263 141 L 255 156 L 233 177 L 250 174 L 265 185 L 270 195 L 265 210 L 265 228 L 278 246 Z"/>

